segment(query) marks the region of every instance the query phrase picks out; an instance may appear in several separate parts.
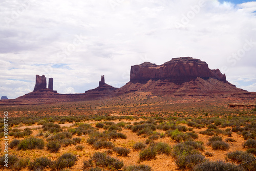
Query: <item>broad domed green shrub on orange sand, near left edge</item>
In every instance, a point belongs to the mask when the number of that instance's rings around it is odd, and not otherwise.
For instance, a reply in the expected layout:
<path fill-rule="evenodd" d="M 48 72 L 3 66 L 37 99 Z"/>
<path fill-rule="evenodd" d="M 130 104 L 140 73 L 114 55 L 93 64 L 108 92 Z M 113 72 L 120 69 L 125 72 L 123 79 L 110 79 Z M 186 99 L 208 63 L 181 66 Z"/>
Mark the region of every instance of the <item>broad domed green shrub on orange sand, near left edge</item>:
<path fill-rule="evenodd" d="M 45 146 L 45 142 L 42 139 L 39 138 L 34 138 L 34 137 L 30 137 L 28 139 L 24 139 L 22 141 L 20 141 L 20 143 L 18 144 L 18 150 L 23 149 L 43 149 Z"/>

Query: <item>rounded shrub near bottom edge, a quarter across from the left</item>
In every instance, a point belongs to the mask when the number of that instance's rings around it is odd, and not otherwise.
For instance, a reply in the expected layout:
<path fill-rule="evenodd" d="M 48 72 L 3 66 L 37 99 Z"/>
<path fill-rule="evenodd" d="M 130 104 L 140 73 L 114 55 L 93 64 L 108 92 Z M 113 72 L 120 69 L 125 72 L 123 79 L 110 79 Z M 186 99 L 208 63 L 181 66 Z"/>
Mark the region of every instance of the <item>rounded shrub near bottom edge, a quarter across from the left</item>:
<path fill-rule="evenodd" d="M 62 168 L 71 167 L 75 165 L 77 157 L 71 153 L 65 153 L 57 158 L 56 161 L 52 162 L 52 169 L 60 170 Z"/>

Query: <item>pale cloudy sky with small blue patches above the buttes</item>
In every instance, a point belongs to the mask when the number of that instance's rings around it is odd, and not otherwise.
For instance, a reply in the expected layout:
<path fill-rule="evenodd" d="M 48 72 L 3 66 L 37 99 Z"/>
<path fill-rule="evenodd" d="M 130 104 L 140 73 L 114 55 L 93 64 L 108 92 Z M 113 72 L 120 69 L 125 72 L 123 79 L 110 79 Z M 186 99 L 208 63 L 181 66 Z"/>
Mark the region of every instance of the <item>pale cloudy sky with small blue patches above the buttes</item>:
<path fill-rule="evenodd" d="M 0 96 L 32 92 L 35 75 L 58 93 L 105 82 L 120 88 L 144 61 L 190 56 L 256 92 L 256 1 L 2 0 Z"/>

